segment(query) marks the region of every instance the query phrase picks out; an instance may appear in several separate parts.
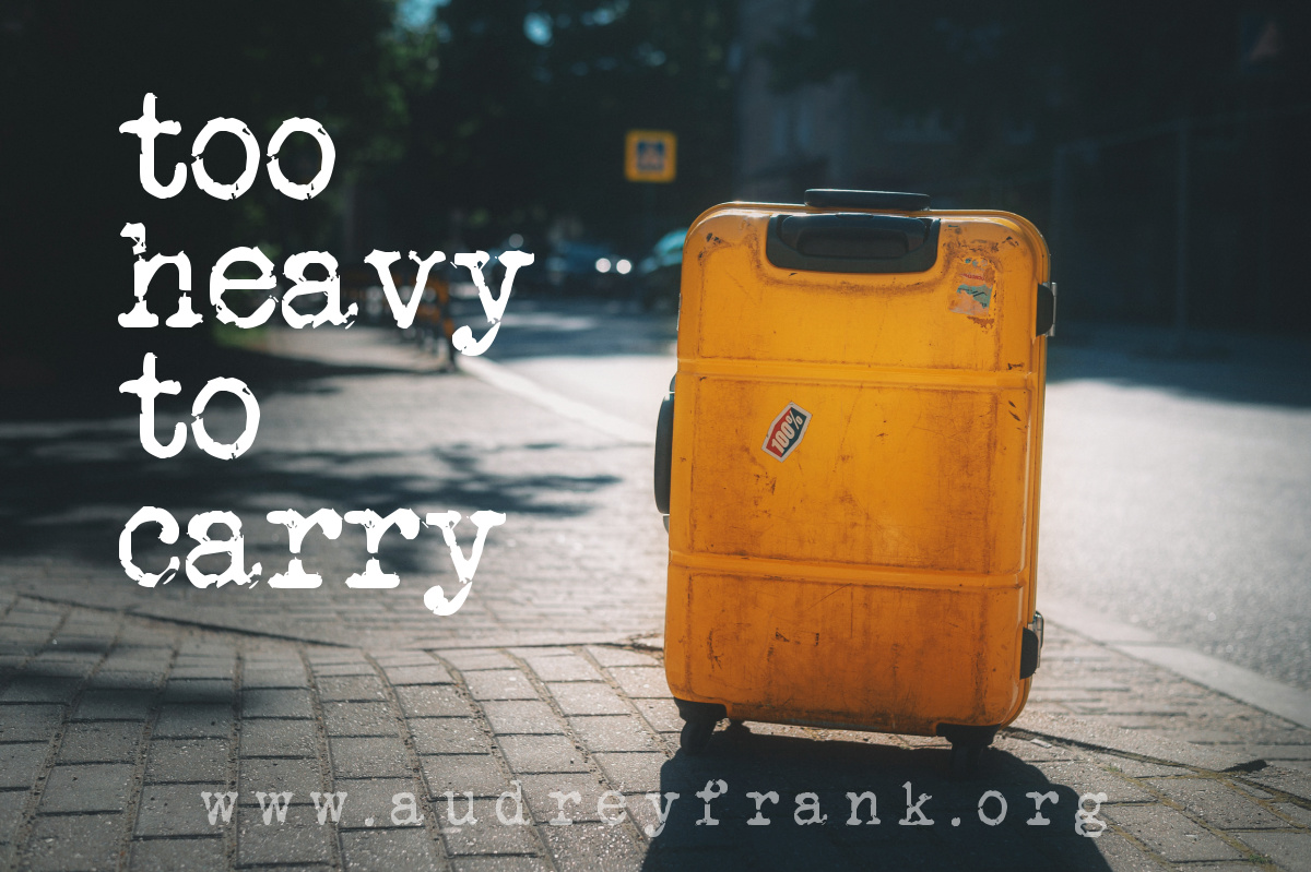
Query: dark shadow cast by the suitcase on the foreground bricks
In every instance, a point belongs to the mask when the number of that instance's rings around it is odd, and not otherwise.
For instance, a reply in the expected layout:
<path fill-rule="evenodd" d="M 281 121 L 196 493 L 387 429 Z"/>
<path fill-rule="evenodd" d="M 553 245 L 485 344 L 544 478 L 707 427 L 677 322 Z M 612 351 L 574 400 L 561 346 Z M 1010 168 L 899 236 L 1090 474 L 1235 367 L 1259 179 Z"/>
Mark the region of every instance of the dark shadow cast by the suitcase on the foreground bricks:
<path fill-rule="evenodd" d="M 730 737 L 732 736 L 732 737 Z M 945 748 L 907 750 L 852 741 L 812 741 L 734 728 L 718 733 L 704 757 L 678 753 L 661 769 L 661 793 L 678 793 L 662 833 L 652 839 L 644 869 L 1109 869 L 1092 838 L 1075 833 L 1079 795 L 1050 783 L 1044 774 L 1009 753 L 988 749 L 973 778 L 947 778 Z M 722 780 L 728 790 L 711 803 L 718 825 L 704 822 L 705 803 L 697 791 Z M 910 783 L 923 818 L 907 810 Z M 717 786 L 716 786 L 717 787 Z M 749 792 L 777 793 L 763 801 L 770 825 L 750 825 L 756 800 Z M 877 797 L 878 824 L 871 825 L 868 800 L 851 824 L 852 801 L 865 792 Z M 990 793 L 983 800 L 985 793 Z M 1029 792 L 1054 791 L 1044 801 L 1045 826 L 1034 816 Z M 809 820 L 814 793 L 823 824 Z M 1004 817 L 1000 793 L 1006 800 Z M 772 799 L 772 797 L 771 797 Z M 645 800 L 649 803 L 649 800 Z M 1091 807 L 1089 807 L 1091 808 Z M 998 821 L 988 825 L 983 816 Z M 902 820 L 932 825 L 903 825 Z M 1099 818 L 1101 820 L 1101 818 Z M 701 822 L 699 822 L 701 821 Z M 953 825 L 953 821 L 957 824 Z"/>

